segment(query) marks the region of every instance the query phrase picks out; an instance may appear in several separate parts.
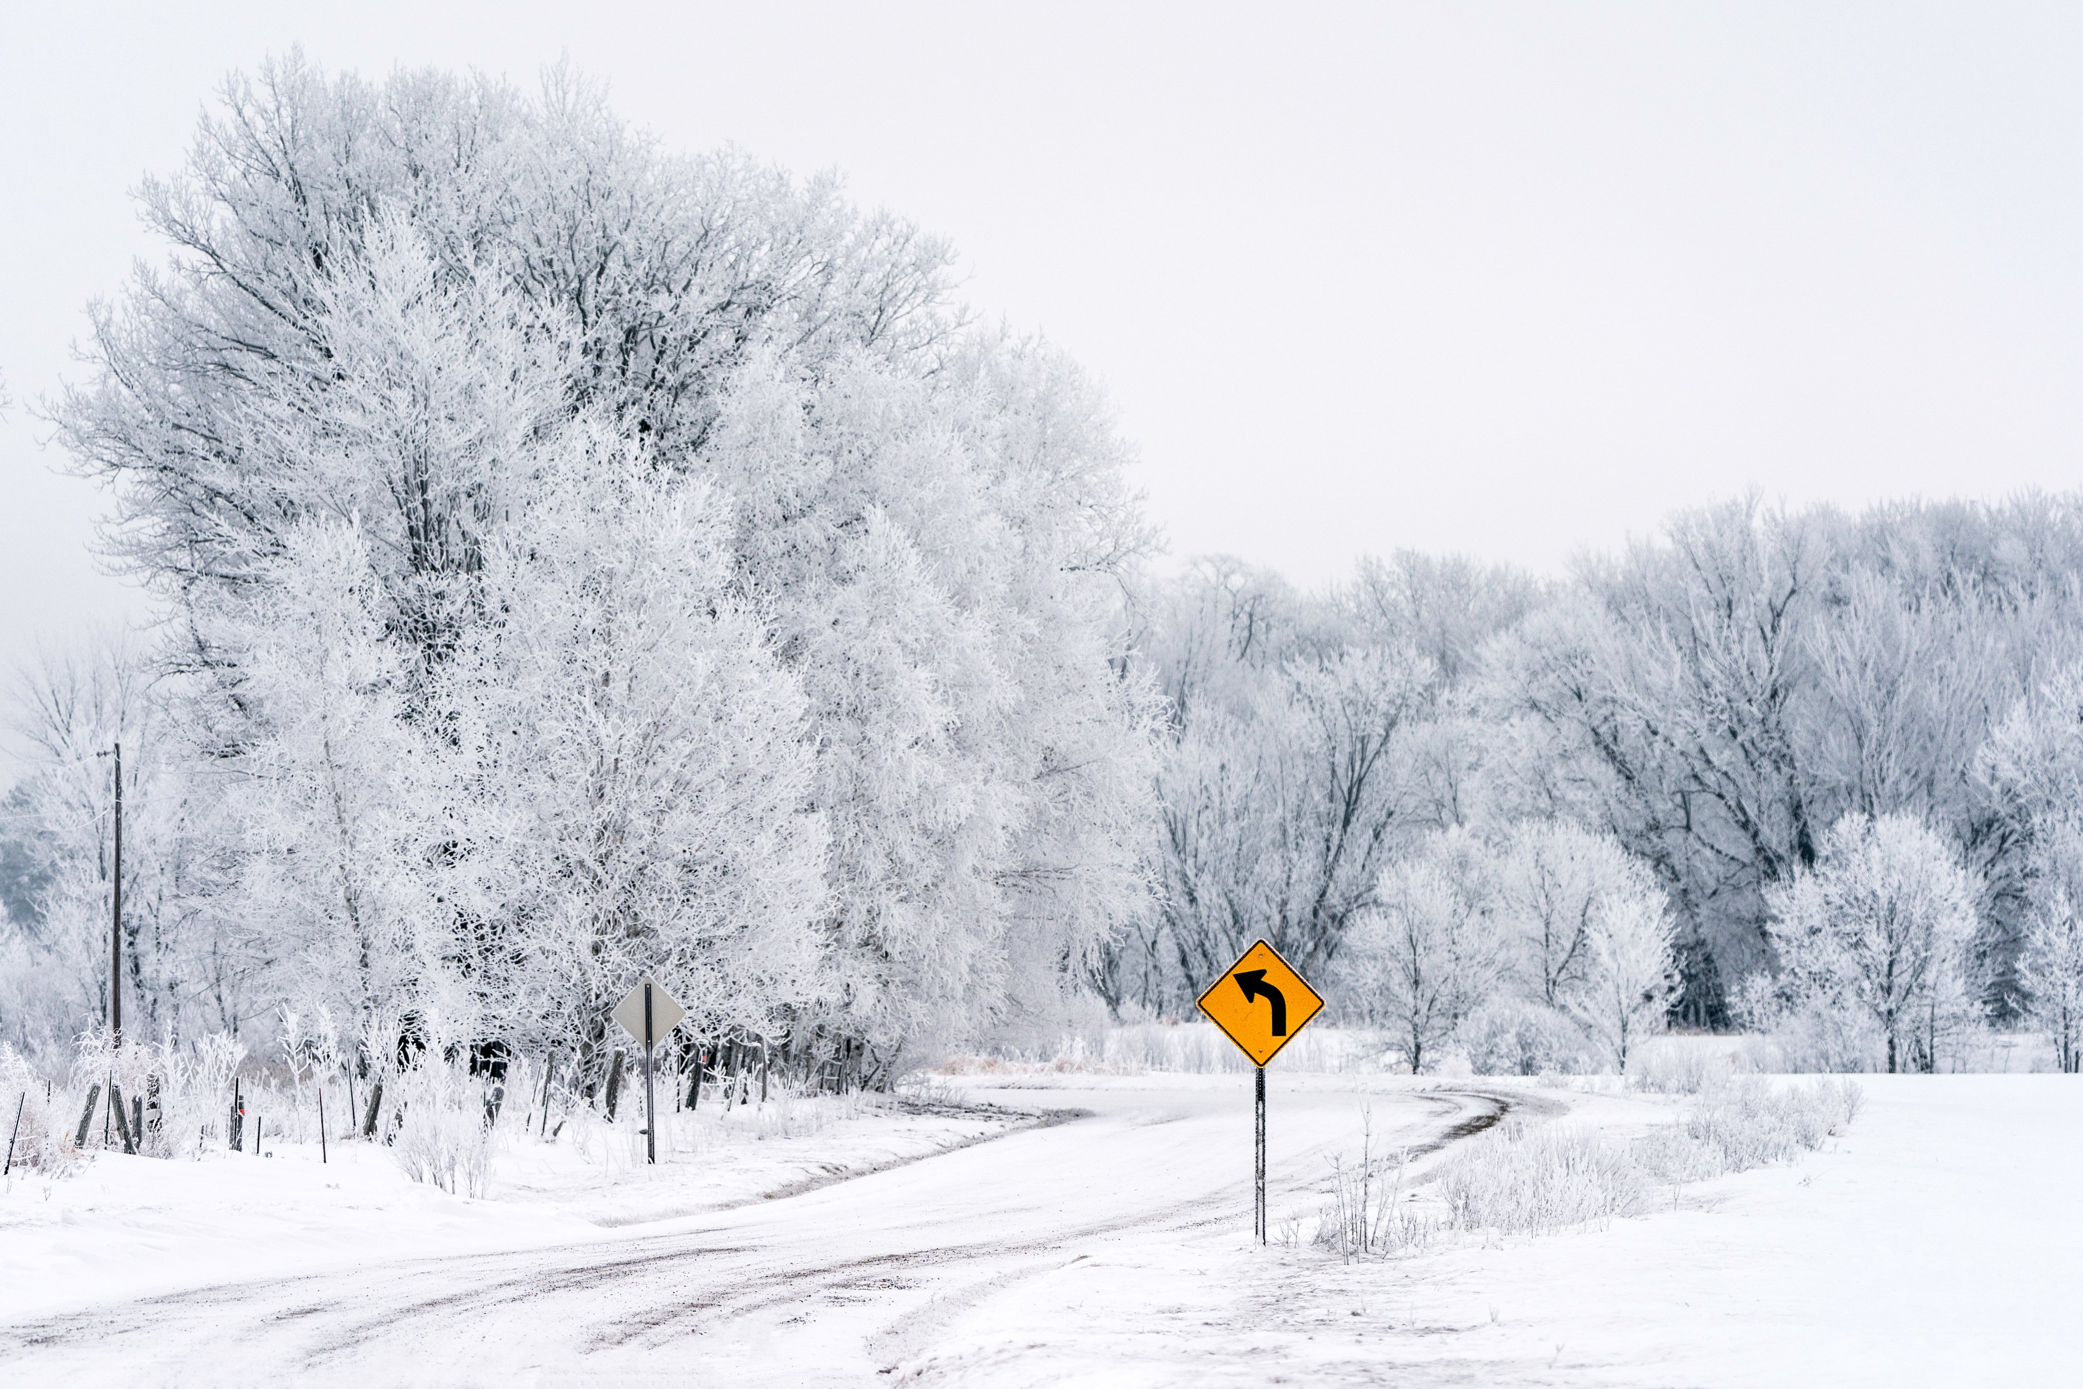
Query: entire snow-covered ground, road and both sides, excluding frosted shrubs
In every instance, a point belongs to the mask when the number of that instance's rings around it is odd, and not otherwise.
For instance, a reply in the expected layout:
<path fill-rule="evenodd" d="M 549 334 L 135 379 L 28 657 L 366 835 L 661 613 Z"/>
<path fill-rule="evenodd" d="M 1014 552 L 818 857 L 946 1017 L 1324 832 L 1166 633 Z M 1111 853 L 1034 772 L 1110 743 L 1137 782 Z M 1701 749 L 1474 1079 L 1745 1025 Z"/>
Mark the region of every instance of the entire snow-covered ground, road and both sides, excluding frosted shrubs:
<path fill-rule="evenodd" d="M 485 1202 L 367 1147 L 323 1168 L 94 1158 L 0 1206 L 0 1364 L 71 1385 L 2064 1383 L 2083 1087 L 1860 1083 L 1848 1135 L 1673 1210 L 1350 1264 L 1250 1245 L 1239 1075 L 992 1077 L 969 1097 L 1089 1116 L 885 1166 L 1004 1125 L 869 1114 L 744 1145 L 729 1181 L 550 1172 Z M 1500 1104 L 1614 1133 L 1679 1104 L 1279 1070 L 1271 1089 L 1275 1229 L 1314 1216 L 1362 1104 L 1394 1145 Z M 687 1206 L 706 1210 L 646 1218 Z"/>

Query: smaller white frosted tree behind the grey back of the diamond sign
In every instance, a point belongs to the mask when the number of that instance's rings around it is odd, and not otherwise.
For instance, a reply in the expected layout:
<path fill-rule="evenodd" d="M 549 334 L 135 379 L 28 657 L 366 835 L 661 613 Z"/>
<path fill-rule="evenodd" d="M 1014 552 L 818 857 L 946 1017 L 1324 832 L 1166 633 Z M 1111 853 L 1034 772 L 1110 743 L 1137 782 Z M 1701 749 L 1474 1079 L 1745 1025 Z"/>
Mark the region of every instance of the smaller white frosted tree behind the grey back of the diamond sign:
<path fill-rule="evenodd" d="M 798 681 L 729 594 L 729 512 L 571 431 L 485 558 L 500 621 L 435 691 L 471 993 L 498 1035 L 575 1037 L 652 973 L 700 1035 L 771 1035 L 831 981 L 827 820 Z"/>

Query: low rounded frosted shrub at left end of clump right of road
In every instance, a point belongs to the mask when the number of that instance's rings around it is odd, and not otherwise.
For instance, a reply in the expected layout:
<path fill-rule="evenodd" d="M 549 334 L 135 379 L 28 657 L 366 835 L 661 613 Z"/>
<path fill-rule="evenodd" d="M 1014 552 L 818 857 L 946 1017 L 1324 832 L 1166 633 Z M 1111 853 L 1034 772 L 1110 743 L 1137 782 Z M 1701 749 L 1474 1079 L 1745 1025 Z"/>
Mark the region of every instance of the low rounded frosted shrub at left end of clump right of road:
<path fill-rule="evenodd" d="M 1650 1185 L 1627 1147 L 1575 1125 L 1506 1118 L 1439 1168 L 1450 1229 L 1544 1235 L 1631 1216 Z"/>

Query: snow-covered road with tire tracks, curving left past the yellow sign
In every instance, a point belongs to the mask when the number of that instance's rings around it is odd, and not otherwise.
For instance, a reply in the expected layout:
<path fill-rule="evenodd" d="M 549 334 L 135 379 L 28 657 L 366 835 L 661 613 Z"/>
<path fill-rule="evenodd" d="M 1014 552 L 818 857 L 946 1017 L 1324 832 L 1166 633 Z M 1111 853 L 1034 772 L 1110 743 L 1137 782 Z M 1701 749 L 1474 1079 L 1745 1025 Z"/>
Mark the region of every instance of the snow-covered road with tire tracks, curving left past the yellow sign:
<path fill-rule="evenodd" d="M 1477 1091 L 1273 1083 L 1273 1206 L 1358 1135 L 1437 1143 L 1502 1108 Z M 939 1335 L 1110 1249 L 1241 1247 L 1248 1079 L 1148 1077 L 979 1091 L 1083 1110 L 804 1195 L 556 1247 L 365 1262 L 217 1283 L 0 1327 L 10 1383 L 71 1385 L 848 1385 L 927 1364 Z M 1166 1322 L 1246 1289 L 1166 1279 Z M 1039 1366 L 1037 1366 L 1039 1368 Z"/>

